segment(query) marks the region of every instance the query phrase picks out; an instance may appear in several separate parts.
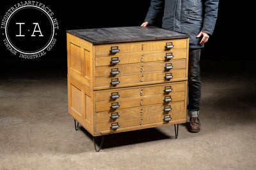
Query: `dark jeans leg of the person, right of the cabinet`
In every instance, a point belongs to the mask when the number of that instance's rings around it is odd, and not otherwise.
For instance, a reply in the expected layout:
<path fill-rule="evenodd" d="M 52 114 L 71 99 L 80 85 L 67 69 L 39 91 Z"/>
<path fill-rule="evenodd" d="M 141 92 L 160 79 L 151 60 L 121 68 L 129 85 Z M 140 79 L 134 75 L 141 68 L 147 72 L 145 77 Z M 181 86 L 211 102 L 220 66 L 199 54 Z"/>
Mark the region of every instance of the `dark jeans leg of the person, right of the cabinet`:
<path fill-rule="evenodd" d="M 188 62 L 188 111 L 199 113 L 201 101 L 200 48 L 189 48 Z M 189 113 L 191 114 L 191 113 Z M 191 115 L 189 115 L 191 117 Z"/>

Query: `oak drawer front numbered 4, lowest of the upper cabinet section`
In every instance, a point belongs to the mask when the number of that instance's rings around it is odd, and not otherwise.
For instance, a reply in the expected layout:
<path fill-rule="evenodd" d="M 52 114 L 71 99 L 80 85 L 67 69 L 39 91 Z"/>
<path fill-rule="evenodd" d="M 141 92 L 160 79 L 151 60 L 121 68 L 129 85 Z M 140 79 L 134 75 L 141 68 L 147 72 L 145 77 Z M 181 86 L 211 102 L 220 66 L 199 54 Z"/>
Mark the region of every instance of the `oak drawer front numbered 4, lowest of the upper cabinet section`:
<path fill-rule="evenodd" d="M 96 77 L 95 87 L 96 88 L 116 88 L 116 87 L 127 87 L 132 85 L 145 85 L 148 83 L 167 83 L 170 81 L 181 81 L 187 80 L 186 70 L 170 71 L 168 73 L 141 73 L 132 74 L 125 76 L 115 77 Z"/>

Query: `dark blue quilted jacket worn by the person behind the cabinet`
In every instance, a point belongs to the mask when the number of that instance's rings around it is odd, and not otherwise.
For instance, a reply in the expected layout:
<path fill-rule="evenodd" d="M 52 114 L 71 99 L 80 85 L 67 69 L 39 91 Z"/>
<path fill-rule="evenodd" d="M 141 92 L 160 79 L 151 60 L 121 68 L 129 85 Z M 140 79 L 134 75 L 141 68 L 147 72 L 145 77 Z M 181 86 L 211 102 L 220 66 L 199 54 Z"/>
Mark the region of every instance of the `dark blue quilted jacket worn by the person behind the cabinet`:
<path fill-rule="evenodd" d="M 189 35 L 189 48 L 202 48 L 200 31 L 212 34 L 218 15 L 219 0 L 152 0 L 145 22 L 154 24 L 157 16 L 164 11 L 164 29 Z"/>

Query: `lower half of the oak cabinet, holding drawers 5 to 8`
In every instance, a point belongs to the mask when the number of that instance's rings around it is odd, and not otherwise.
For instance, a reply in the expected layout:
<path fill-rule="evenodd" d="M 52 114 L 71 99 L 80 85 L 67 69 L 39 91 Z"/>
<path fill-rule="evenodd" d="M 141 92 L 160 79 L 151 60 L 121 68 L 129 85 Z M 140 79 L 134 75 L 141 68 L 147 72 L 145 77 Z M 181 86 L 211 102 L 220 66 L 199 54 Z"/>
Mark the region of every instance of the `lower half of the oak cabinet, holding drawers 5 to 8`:
<path fill-rule="evenodd" d="M 69 113 L 93 136 L 186 122 L 187 81 L 91 90 L 68 75 Z"/>

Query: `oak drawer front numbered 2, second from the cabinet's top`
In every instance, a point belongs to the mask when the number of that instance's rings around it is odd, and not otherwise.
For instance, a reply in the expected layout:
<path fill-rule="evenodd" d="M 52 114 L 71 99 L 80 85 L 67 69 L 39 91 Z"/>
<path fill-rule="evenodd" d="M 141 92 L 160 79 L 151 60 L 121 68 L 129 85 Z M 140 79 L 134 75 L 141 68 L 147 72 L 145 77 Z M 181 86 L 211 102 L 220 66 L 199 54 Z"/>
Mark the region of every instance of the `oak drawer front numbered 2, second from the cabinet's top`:
<path fill-rule="evenodd" d="M 166 59 L 165 56 L 171 56 Z M 187 51 L 184 50 L 170 50 L 161 52 L 143 52 L 143 53 L 127 53 L 109 55 L 104 57 L 95 57 L 95 66 L 118 66 L 120 64 L 143 63 L 143 62 L 157 62 L 157 61 L 171 61 L 176 59 L 186 59 Z M 171 59 L 172 58 L 172 59 Z M 111 60 L 118 59 L 118 63 L 111 64 Z"/>

